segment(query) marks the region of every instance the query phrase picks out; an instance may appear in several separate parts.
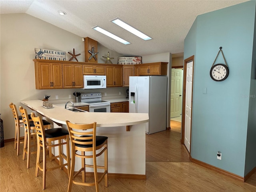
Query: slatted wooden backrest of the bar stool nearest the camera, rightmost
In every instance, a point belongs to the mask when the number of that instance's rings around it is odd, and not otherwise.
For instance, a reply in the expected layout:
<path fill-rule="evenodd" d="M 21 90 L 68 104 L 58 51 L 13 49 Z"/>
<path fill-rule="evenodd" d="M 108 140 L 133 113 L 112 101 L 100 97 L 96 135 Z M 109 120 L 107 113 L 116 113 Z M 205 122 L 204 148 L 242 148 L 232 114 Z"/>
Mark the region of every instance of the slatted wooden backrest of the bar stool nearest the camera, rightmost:
<path fill-rule="evenodd" d="M 96 148 L 96 122 L 91 124 L 74 124 L 66 121 L 66 124 L 72 149 L 75 148 L 75 144 L 92 145 L 93 150 Z"/>

